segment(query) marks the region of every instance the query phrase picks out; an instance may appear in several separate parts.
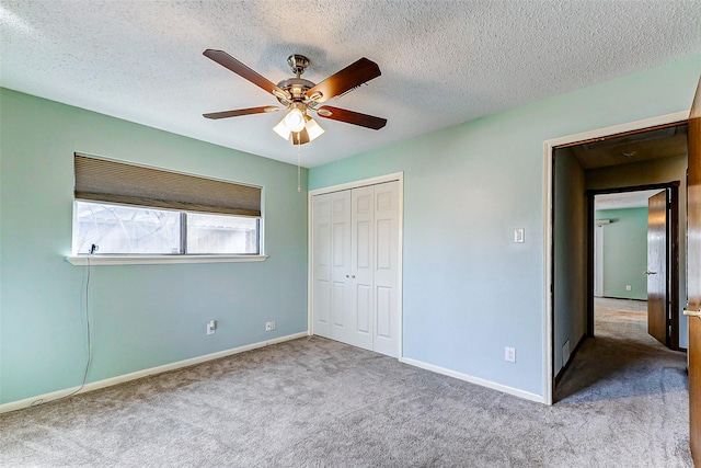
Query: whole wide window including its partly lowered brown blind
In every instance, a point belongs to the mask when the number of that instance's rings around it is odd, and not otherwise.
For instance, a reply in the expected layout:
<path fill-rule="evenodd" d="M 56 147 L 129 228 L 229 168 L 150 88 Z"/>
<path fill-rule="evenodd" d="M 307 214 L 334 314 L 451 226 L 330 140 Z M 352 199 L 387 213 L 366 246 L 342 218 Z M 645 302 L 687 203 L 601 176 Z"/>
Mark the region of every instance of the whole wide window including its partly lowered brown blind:
<path fill-rule="evenodd" d="M 73 255 L 260 255 L 261 189 L 76 155 Z"/>

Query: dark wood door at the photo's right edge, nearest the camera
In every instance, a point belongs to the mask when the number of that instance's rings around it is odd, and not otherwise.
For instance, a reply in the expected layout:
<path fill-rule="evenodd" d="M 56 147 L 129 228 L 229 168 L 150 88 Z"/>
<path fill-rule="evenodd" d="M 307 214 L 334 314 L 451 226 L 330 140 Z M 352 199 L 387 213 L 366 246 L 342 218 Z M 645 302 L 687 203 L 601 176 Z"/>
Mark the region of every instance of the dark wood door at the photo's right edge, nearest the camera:
<path fill-rule="evenodd" d="M 687 311 L 701 311 L 701 80 L 689 114 L 687 178 Z M 689 316 L 689 434 L 691 455 L 701 467 L 701 317 Z"/>

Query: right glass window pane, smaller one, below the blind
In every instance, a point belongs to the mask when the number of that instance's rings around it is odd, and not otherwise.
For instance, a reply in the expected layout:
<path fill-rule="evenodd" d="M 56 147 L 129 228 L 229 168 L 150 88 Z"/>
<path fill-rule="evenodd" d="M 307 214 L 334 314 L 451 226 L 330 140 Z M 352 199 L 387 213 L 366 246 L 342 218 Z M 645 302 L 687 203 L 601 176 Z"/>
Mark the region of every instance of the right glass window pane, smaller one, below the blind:
<path fill-rule="evenodd" d="M 258 219 L 187 214 L 187 253 L 258 253 Z"/>

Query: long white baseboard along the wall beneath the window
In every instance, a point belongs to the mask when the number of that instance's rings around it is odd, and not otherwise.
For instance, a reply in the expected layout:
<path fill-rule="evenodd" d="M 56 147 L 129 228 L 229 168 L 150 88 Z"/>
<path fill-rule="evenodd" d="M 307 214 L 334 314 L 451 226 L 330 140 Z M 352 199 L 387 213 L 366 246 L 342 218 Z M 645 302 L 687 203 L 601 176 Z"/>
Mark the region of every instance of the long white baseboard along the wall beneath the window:
<path fill-rule="evenodd" d="M 309 336 L 309 332 L 303 331 L 301 333 L 288 334 L 287 336 L 280 336 L 274 340 L 261 341 L 253 344 L 246 344 L 245 346 L 239 346 L 239 347 L 233 347 L 231 350 L 218 351 L 216 353 L 205 354 L 203 356 L 192 357 L 189 359 L 179 361 L 176 363 L 164 364 L 158 367 L 151 367 L 148 369 L 137 370 L 135 373 L 125 374 L 117 377 L 111 377 L 100 381 L 92 381 L 90 384 L 85 384 L 85 386 L 82 389 L 80 388 L 80 386 L 76 386 L 72 388 L 66 388 L 64 390 L 53 391 L 50 393 L 37 395 L 36 397 L 25 398 L 23 400 L 10 401 L 9 403 L 0 404 L 0 414 L 7 413 L 10 411 L 21 410 L 24 408 L 30 408 L 32 406 L 37 406 L 41 403 L 48 403 L 50 401 L 67 397 L 72 392 L 76 392 L 76 395 L 84 393 L 87 391 L 111 387 L 113 385 L 123 384 L 125 381 L 135 380 L 137 378 L 148 377 L 148 376 L 161 374 L 169 370 L 175 370 L 183 367 L 193 366 L 195 364 L 200 364 L 207 361 L 218 359 L 220 357 L 227 357 L 233 354 L 256 350 L 258 347 L 269 346 L 272 344 L 284 343 L 286 341 L 297 340 L 299 338 L 304 338 L 304 336 Z M 80 391 L 78 391 L 79 389 Z"/>

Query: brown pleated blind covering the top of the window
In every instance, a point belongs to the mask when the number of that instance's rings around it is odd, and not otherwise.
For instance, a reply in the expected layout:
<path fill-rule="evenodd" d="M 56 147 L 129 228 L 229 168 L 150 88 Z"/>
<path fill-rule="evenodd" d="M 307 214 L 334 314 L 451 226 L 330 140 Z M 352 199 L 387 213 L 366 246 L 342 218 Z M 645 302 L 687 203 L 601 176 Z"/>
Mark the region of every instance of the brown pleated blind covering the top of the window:
<path fill-rule="evenodd" d="M 261 187 L 76 153 L 76 198 L 261 216 Z"/>

